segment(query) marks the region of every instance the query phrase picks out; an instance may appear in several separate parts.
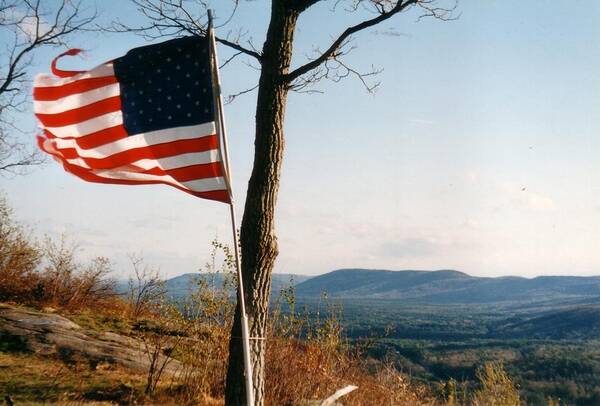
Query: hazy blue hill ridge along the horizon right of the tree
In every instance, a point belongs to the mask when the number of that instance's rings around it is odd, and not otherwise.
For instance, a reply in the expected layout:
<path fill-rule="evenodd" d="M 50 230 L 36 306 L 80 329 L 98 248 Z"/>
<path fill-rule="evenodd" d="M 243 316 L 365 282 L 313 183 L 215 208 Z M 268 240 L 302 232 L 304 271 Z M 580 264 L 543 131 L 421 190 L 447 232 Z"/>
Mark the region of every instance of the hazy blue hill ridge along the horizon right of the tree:
<path fill-rule="evenodd" d="M 323 292 L 338 298 L 386 299 L 429 304 L 549 300 L 600 301 L 600 276 L 477 277 L 455 270 L 339 269 L 296 285 L 298 297 Z"/>

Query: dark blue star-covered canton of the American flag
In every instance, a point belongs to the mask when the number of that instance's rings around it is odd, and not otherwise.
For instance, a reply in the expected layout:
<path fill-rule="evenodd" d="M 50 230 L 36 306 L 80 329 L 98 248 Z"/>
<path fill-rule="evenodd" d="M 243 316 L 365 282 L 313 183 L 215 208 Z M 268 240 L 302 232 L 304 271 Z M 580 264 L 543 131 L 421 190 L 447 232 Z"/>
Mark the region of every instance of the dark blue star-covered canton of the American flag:
<path fill-rule="evenodd" d="M 114 69 L 129 135 L 214 121 L 208 38 L 135 48 Z"/>

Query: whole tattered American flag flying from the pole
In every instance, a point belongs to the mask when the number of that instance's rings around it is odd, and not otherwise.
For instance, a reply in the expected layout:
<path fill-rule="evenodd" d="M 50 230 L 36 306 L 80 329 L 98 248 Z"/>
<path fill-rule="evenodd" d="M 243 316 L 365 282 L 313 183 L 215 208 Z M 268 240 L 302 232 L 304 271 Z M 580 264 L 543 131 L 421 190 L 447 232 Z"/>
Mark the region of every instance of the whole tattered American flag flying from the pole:
<path fill-rule="evenodd" d="M 210 42 L 135 48 L 89 71 L 35 78 L 40 148 L 88 182 L 162 183 L 229 202 L 216 135 Z"/>

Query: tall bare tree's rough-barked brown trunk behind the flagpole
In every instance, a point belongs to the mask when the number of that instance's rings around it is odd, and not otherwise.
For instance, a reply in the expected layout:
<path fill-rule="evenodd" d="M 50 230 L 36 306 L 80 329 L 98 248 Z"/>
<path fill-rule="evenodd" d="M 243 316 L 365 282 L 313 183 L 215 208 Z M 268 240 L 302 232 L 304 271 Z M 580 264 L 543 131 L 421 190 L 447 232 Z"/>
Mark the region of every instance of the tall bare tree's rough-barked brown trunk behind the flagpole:
<path fill-rule="evenodd" d="M 283 159 L 283 122 L 288 94 L 284 75 L 288 73 L 292 59 L 298 15 L 299 12 L 289 6 L 289 0 L 273 0 L 256 104 L 254 166 L 248 181 L 240 233 L 256 405 L 264 403 L 266 343 L 262 338 L 267 335 L 271 272 L 278 254 L 274 215 Z M 239 306 L 231 337 L 225 404 L 244 405 Z"/>

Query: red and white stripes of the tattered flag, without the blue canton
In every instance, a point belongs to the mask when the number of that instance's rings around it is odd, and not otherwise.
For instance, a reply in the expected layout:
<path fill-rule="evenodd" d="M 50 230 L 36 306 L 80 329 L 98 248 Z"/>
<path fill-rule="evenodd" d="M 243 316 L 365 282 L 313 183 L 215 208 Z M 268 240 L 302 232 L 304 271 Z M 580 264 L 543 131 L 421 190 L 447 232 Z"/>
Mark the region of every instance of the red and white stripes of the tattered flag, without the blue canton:
<path fill-rule="evenodd" d="M 128 135 L 112 63 L 90 71 L 35 78 L 34 111 L 39 147 L 67 172 L 88 182 L 126 185 L 162 183 L 194 196 L 229 202 L 215 123 Z"/>

